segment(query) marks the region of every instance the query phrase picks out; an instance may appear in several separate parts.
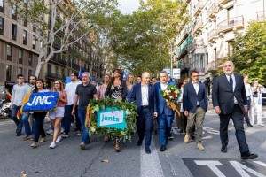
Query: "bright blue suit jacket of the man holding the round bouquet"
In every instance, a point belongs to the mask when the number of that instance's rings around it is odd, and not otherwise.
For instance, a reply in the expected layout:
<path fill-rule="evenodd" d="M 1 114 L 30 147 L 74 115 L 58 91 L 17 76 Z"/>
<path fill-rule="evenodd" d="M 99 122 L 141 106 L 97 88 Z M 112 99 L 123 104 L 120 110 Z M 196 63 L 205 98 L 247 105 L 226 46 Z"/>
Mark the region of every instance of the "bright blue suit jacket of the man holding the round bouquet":
<path fill-rule="evenodd" d="M 169 85 L 174 85 L 172 82 L 168 82 L 168 86 Z M 172 108 L 170 108 L 167 105 L 167 102 L 165 101 L 164 98 L 162 98 L 160 92 L 161 92 L 161 88 L 160 88 L 160 82 L 157 82 L 153 85 L 153 89 L 154 89 L 154 112 L 158 112 L 158 115 L 160 114 L 164 114 L 164 115 L 168 115 L 168 116 L 174 116 L 174 111 L 172 110 Z"/>

